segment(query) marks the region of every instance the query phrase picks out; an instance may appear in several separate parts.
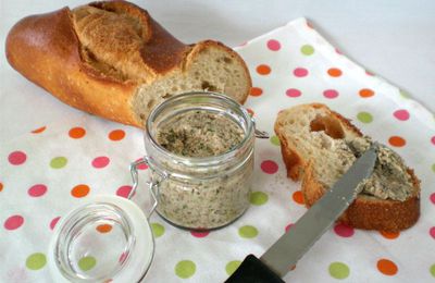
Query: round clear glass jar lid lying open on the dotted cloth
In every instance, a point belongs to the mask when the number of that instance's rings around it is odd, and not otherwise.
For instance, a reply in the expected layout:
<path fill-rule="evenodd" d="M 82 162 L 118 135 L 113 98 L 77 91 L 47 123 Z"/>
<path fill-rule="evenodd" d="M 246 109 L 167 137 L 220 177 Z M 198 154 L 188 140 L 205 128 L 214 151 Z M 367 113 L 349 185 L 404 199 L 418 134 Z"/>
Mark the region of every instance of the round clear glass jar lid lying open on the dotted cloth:
<path fill-rule="evenodd" d="M 89 198 L 58 223 L 48 261 L 53 282 L 139 282 L 151 264 L 152 231 L 133 201 Z"/>

